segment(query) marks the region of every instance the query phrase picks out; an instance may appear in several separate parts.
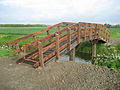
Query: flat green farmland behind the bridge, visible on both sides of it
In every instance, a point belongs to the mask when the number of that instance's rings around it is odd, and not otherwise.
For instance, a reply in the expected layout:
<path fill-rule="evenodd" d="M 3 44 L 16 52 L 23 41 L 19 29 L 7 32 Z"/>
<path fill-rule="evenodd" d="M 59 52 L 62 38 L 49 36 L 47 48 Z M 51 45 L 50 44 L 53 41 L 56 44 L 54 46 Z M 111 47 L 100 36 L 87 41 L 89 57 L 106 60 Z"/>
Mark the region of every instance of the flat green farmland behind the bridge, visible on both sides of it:
<path fill-rule="evenodd" d="M 0 46 L 44 28 L 45 27 L 0 27 Z M 109 30 L 112 32 L 111 38 L 120 38 L 120 28 L 109 28 Z M 51 30 L 51 32 L 55 31 L 56 29 Z M 46 34 L 47 33 L 42 33 L 38 38 L 44 37 Z"/>

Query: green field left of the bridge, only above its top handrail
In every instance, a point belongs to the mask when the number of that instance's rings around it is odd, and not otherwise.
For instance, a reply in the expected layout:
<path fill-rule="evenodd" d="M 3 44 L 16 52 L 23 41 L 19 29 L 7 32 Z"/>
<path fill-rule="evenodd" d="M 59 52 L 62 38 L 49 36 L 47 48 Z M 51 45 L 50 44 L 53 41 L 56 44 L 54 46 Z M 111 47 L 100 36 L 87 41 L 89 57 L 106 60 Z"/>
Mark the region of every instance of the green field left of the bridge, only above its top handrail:
<path fill-rule="evenodd" d="M 27 34 L 39 31 L 44 28 L 34 27 L 0 27 L 0 46 L 12 40 L 23 37 Z M 40 37 L 40 36 L 39 36 Z M 42 36 L 41 36 L 42 37 Z"/>

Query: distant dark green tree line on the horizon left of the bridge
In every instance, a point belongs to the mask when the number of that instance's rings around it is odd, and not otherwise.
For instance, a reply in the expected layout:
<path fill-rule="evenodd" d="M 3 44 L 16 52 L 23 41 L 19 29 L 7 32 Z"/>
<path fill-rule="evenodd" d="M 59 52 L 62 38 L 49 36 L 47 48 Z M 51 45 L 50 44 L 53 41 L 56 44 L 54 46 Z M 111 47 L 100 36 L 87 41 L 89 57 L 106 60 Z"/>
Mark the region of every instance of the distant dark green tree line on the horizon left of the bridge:
<path fill-rule="evenodd" d="M 47 27 L 45 24 L 0 24 L 0 27 Z"/>

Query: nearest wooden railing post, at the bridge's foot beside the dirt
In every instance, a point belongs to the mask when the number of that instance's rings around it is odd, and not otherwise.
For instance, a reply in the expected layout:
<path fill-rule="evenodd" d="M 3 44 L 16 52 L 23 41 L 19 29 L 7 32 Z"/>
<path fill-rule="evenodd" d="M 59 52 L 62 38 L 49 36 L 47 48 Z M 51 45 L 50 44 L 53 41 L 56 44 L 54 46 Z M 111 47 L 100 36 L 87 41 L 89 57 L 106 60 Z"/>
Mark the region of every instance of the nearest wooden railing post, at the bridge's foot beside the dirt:
<path fill-rule="evenodd" d="M 41 42 L 38 42 L 38 54 L 39 54 L 39 64 L 43 67 L 44 59 L 43 59 L 43 47 Z"/>

